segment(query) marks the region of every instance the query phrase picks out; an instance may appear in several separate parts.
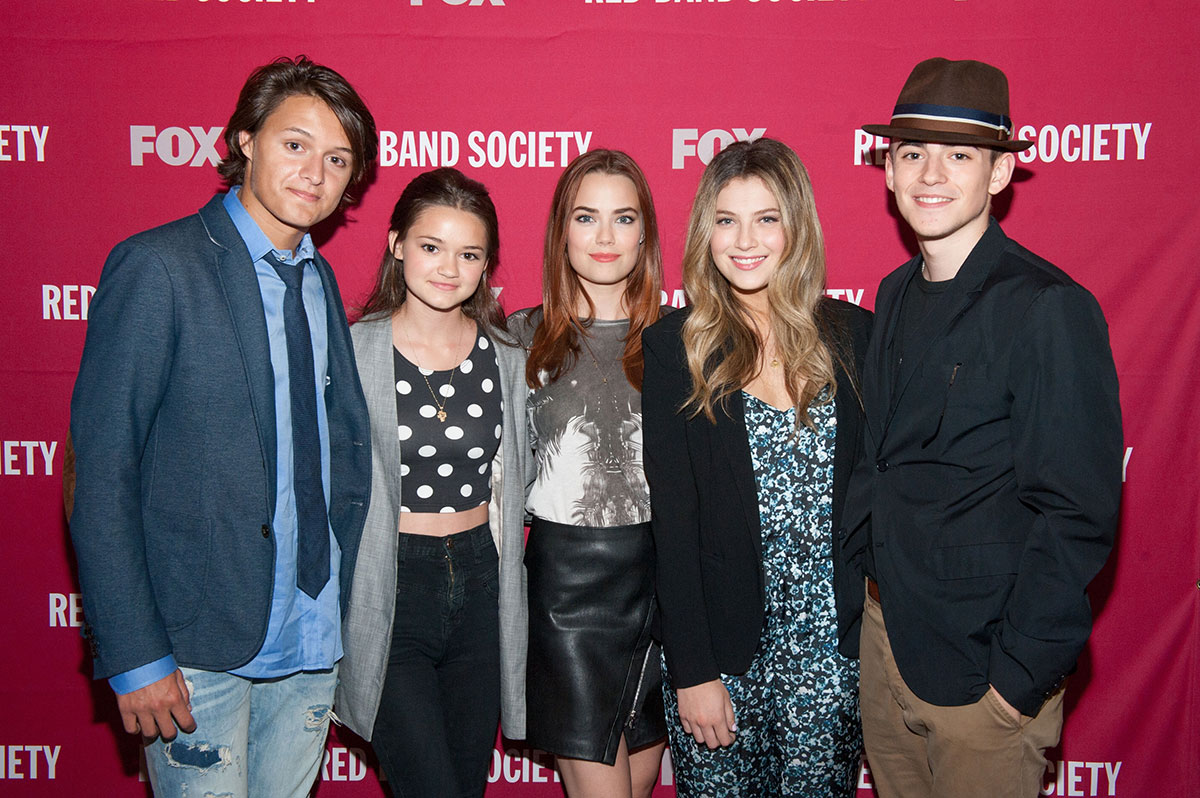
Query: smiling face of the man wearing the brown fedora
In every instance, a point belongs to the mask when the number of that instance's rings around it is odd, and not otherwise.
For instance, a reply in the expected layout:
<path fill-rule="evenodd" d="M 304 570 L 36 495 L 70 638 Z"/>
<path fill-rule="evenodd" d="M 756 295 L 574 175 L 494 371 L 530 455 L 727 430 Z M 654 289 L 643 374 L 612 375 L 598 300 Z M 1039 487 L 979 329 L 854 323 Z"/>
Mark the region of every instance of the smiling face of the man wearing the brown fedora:
<path fill-rule="evenodd" d="M 991 197 L 1008 185 L 1013 166 L 1010 152 L 992 160 L 977 146 L 901 142 L 888 151 L 886 174 L 922 250 L 934 246 L 965 259 L 988 229 Z"/>

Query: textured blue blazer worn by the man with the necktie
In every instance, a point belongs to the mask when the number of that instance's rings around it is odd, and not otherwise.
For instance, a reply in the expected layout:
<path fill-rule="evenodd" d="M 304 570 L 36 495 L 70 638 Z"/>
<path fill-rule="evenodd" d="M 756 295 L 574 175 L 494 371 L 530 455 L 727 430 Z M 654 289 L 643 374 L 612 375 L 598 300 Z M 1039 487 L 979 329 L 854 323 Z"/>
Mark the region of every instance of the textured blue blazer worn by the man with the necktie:
<path fill-rule="evenodd" d="M 346 311 L 329 313 L 329 517 L 347 604 L 371 478 Z M 71 400 L 71 515 L 95 677 L 173 654 L 227 671 L 262 647 L 275 536 L 274 374 L 253 264 L 215 197 L 109 254 Z"/>

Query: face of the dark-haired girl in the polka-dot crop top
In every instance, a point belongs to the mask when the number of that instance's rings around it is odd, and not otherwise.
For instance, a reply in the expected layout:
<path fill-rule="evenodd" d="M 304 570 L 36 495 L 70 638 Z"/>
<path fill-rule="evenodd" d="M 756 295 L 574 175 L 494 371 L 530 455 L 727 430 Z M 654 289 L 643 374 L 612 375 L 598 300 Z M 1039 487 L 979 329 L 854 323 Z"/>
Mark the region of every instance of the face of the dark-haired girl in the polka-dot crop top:
<path fill-rule="evenodd" d="M 458 310 L 470 299 L 487 268 L 487 228 L 464 210 L 434 205 L 421 211 L 404 238 L 388 238 L 403 263 L 406 301 L 430 310 Z"/>

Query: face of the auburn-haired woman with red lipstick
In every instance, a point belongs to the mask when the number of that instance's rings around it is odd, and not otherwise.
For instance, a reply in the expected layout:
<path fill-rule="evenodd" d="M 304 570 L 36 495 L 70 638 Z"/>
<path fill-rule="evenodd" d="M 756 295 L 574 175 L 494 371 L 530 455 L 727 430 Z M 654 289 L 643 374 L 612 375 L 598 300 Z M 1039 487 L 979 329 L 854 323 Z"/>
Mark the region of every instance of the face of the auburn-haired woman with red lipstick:
<path fill-rule="evenodd" d="M 642 236 L 634 181 L 624 175 L 586 174 L 566 224 L 566 258 L 583 290 L 624 292 Z"/>

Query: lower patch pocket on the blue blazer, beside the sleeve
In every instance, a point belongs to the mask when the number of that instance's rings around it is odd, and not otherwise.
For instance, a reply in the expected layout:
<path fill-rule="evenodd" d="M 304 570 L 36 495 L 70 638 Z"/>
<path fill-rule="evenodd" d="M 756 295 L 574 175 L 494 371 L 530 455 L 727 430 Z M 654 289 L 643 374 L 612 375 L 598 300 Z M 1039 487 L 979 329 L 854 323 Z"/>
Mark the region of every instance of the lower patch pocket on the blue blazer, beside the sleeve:
<path fill-rule="evenodd" d="M 212 522 L 146 508 L 143 512 L 146 570 L 167 631 L 196 620 L 204 606 Z"/>

